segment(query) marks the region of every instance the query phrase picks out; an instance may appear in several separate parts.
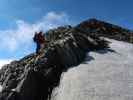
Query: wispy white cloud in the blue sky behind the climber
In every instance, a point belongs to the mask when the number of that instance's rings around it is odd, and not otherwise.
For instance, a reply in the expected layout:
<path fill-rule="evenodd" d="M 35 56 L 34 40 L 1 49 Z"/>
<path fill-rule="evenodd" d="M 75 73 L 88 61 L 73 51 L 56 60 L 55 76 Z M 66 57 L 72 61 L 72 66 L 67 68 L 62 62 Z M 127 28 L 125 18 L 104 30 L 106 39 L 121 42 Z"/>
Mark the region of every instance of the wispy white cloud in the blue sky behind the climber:
<path fill-rule="evenodd" d="M 32 43 L 32 37 L 35 31 L 46 31 L 48 29 L 68 24 L 69 17 L 65 13 L 49 12 L 41 20 L 34 24 L 30 24 L 23 20 L 17 20 L 16 29 L 0 30 L 0 50 L 16 50 L 28 49 Z"/>

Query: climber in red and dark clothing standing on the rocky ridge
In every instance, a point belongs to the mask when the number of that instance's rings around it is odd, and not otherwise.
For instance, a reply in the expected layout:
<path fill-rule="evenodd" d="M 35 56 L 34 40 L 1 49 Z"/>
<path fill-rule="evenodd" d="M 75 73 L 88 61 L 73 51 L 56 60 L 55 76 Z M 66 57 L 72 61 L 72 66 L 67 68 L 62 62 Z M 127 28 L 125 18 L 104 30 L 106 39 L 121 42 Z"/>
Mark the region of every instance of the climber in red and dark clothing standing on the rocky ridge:
<path fill-rule="evenodd" d="M 45 36 L 43 36 L 43 32 L 42 31 L 40 31 L 39 33 L 35 32 L 33 40 L 37 44 L 36 53 L 38 54 L 41 52 L 41 49 L 44 48 Z"/>

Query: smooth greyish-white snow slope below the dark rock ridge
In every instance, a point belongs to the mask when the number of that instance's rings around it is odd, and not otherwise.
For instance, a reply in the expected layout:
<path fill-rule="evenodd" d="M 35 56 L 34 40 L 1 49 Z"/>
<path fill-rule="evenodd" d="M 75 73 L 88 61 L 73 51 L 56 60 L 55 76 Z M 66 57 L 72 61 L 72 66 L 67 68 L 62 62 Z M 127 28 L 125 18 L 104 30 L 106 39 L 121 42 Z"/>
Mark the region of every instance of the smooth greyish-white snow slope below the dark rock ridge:
<path fill-rule="evenodd" d="M 62 75 L 52 100 L 133 100 L 133 45 L 109 41 L 114 52 L 89 52 Z"/>

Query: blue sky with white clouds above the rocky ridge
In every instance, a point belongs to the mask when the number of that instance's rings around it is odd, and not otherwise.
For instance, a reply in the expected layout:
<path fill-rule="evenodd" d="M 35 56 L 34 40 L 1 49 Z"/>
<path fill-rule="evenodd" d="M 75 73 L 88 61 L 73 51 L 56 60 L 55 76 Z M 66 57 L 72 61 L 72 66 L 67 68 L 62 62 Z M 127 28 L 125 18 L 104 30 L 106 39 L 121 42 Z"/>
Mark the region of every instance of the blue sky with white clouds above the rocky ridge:
<path fill-rule="evenodd" d="M 35 31 L 95 17 L 133 29 L 132 0 L 0 0 L 0 60 L 35 51 Z"/>

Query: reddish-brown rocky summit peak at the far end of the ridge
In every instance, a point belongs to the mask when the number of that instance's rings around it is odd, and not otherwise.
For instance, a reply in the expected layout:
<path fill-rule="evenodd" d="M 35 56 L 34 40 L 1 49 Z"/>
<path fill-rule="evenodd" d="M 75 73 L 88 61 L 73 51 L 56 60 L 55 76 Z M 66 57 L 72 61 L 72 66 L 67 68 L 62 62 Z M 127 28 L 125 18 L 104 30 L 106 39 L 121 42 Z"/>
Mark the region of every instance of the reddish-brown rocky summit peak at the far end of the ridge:
<path fill-rule="evenodd" d="M 99 21 L 97 19 L 84 21 L 77 25 L 76 29 L 84 33 L 89 32 L 88 34 L 91 34 L 92 36 L 103 36 L 119 41 L 133 43 L 133 31 L 124 29 L 117 25 Z"/>

